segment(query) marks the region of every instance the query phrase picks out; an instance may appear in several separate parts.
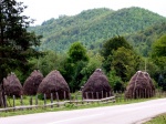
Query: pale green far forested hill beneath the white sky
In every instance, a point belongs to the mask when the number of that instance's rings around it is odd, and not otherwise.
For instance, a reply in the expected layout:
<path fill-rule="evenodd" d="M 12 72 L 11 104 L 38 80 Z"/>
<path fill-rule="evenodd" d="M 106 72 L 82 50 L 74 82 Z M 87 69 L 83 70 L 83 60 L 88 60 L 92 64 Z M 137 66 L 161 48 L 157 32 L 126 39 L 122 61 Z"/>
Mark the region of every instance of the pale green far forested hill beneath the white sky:
<path fill-rule="evenodd" d="M 102 8 L 82 11 L 72 17 L 50 19 L 30 30 L 43 35 L 42 50 L 62 52 L 75 41 L 81 41 L 87 49 L 96 49 L 104 40 L 114 35 L 127 35 L 165 21 L 166 18 L 142 8 L 117 11 Z"/>

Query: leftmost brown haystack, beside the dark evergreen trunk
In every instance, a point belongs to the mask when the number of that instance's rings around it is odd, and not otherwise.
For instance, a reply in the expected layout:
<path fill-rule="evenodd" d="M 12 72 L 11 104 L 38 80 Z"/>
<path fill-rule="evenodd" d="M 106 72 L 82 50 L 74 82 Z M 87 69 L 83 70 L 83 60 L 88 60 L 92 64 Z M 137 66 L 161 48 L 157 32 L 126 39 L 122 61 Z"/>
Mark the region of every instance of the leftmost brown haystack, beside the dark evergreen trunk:
<path fill-rule="evenodd" d="M 17 97 L 22 95 L 22 85 L 14 73 L 11 73 L 3 79 L 4 92 L 9 96 L 15 95 Z"/>

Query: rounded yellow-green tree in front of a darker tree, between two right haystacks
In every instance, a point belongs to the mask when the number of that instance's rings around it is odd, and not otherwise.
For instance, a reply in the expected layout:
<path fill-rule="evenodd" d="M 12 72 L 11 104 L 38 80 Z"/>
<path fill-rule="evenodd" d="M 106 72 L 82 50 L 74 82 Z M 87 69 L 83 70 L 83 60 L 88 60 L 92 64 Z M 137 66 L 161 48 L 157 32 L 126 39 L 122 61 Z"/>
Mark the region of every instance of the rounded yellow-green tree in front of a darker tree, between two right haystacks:
<path fill-rule="evenodd" d="M 122 46 L 113 52 L 112 66 L 124 82 L 127 82 L 138 70 L 139 63 L 139 56 L 129 49 Z"/>

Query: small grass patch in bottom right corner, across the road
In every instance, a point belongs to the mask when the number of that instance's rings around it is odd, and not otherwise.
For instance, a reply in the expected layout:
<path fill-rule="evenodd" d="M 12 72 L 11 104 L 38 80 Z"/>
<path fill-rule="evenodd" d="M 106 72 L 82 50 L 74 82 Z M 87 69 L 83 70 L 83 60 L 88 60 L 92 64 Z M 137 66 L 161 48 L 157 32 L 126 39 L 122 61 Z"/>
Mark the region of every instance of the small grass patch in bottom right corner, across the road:
<path fill-rule="evenodd" d="M 166 124 L 166 113 L 152 118 L 151 121 L 146 122 L 145 124 Z"/>

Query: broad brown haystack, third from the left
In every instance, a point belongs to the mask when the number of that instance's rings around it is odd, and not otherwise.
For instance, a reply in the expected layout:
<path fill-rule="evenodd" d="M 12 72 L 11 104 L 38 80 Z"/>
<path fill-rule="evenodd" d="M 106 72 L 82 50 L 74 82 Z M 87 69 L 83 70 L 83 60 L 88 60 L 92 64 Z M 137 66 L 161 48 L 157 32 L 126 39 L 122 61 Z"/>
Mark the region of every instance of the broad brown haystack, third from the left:
<path fill-rule="evenodd" d="M 56 70 L 50 72 L 41 82 L 38 89 L 39 94 L 45 94 L 46 99 L 51 97 L 51 93 L 53 94 L 53 99 L 69 99 L 70 97 L 70 89 L 68 83 L 61 73 Z M 59 97 L 56 97 L 59 94 Z"/>

